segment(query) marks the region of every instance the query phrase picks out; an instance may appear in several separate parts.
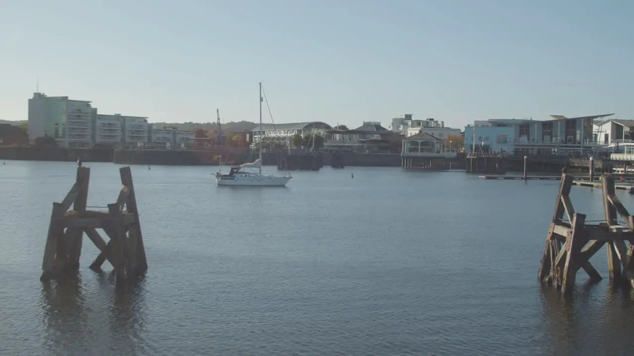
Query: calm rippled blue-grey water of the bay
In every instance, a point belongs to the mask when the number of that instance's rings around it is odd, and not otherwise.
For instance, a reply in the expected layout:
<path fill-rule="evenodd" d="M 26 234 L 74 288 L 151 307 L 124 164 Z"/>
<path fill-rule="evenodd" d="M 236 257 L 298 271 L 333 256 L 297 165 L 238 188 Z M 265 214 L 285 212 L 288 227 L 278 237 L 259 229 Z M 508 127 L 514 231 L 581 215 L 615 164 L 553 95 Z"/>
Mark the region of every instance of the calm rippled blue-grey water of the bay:
<path fill-rule="evenodd" d="M 88 205 L 119 170 L 91 167 Z M 623 355 L 634 297 L 579 272 L 537 282 L 556 181 L 399 168 L 295 172 L 287 188 L 217 188 L 216 167 L 133 166 L 148 274 L 127 291 L 88 265 L 42 284 L 51 203 L 75 163 L 0 167 L 0 355 Z M 271 168 L 272 169 L 272 168 Z M 354 173 L 354 179 L 351 178 Z M 618 191 L 626 207 L 633 197 Z M 588 220 L 600 191 L 573 188 Z M 105 264 L 105 270 L 111 267 Z"/>

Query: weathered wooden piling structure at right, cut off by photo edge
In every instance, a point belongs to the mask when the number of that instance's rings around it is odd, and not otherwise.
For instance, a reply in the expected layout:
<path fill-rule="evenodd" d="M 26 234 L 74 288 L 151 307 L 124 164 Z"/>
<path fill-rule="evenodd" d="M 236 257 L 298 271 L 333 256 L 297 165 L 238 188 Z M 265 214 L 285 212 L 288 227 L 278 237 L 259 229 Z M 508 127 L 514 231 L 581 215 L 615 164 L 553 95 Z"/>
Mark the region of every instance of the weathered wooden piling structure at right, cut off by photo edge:
<path fill-rule="evenodd" d="M 562 174 L 541 258 L 540 281 L 566 293 L 573 288 L 579 269 L 591 280 L 600 280 L 590 258 L 606 245 L 610 280 L 634 288 L 634 220 L 614 193 L 614 179 L 611 175 L 601 177 L 605 222 L 600 224 L 586 224 L 586 215 L 575 212 L 569 197 L 573 180 L 572 175 Z M 624 224 L 619 224 L 617 214 Z"/>

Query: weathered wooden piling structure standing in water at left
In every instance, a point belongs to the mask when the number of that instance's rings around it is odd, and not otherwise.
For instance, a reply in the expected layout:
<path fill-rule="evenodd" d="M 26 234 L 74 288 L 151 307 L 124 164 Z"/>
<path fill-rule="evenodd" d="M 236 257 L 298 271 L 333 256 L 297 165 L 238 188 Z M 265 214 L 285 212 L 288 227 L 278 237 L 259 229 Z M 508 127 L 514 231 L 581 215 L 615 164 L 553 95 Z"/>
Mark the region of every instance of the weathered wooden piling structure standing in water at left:
<path fill-rule="evenodd" d="M 122 184 L 119 197 L 115 203 L 108 204 L 107 212 L 102 212 L 86 210 L 90 168 L 77 168 L 75 184 L 66 198 L 61 203 L 53 203 L 42 260 L 42 281 L 79 269 L 84 232 L 100 250 L 91 269 L 100 270 L 108 260 L 114 267 L 117 283 L 147 270 L 132 173 L 130 167 L 122 167 L 119 172 Z M 69 210 L 71 205 L 73 208 Z M 107 234 L 108 243 L 97 229 Z"/>

